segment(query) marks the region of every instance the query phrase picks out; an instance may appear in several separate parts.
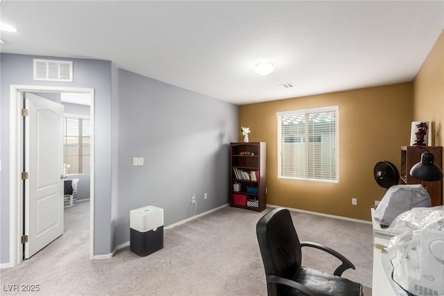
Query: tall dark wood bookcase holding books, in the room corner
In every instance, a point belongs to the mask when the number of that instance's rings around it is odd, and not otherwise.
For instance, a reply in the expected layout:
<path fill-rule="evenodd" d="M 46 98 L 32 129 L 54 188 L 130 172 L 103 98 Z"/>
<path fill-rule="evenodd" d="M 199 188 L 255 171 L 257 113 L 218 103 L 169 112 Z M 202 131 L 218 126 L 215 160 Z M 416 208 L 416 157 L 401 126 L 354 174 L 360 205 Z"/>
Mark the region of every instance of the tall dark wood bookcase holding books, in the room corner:
<path fill-rule="evenodd" d="M 230 143 L 230 206 L 253 211 L 266 207 L 266 143 Z"/>

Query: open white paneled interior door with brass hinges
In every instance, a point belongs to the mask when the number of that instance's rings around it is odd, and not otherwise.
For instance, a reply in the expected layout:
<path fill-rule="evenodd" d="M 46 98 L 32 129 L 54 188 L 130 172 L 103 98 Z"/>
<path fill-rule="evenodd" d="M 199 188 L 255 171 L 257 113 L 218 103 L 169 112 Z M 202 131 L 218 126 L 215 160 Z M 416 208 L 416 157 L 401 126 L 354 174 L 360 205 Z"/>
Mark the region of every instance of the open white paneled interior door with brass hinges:
<path fill-rule="evenodd" d="M 24 225 L 28 259 L 63 234 L 63 106 L 26 93 Z"/>

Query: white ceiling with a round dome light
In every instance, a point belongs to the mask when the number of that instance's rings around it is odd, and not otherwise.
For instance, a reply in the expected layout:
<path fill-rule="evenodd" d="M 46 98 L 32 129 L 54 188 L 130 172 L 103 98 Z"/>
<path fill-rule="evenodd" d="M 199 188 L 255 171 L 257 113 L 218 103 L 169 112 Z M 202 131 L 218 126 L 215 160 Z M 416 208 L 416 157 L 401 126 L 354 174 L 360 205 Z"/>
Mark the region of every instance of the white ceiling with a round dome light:
<path fill-rule="evenodd" d="M 112 60 L 242 105 L 413 80 L 444 1 L 6 0 L 1 21 L 18 30 L 1 52 Z"/>

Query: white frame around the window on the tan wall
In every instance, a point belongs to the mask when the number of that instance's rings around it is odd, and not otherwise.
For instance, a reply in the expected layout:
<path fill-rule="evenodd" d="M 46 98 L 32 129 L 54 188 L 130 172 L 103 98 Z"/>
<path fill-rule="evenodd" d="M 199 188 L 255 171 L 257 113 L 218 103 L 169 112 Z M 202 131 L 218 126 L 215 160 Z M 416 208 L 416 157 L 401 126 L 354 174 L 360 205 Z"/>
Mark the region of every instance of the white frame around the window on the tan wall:
<path fill-rule="evenodd" d="M 336 127 L 335 127 L 335 132 L 336 132 L 336 143 L 334 143 L 334 149 L 336 150 L 335 153 L 335 179 L 317 179 L 314 177 L 309 177 L 308 174 L 305 175 L 305 177 L 290 177 L 290 176 L 285 176 L 282 174 L 282 144 L 284 143 L 284 139 L 282 139 L 282 116 L 289 116 L 289 115 L 300 115 L 300 114 L 305 114 L 305 116 L 307 116 L 307 114 L 311 114 L 311 113 L 317 113 L 317 112 L 336 112 Z M 276 113 L 276 117 L 277 117 L 277 122 L 278 122 L 278 179 L 287 179 L 287 180 L 303 180 L 303 181 L 310 181 L 310 182 L 324 182 L 324 183 L 334 183 L 337 184 L 339 183 L 339 106 L 330 106 L 330 107 L 318 107 L 318 108 L 310 108 L 310 109 L 303 109 L 303 110 L 292 110 L 292 111 L 286 111 L 286 112 L 277 112 Z M 306 125 L 307 123 L 305 123 Z M 307 130 L 307 128 L 306 128 Z M 332 134 L 332 133 L 330 133 Z M 318 132 L 314 132 L 312 134 L 306 134 L 304 132 L 304 134 L 299 134 L 296 137 L 300 137 L 301 139 L 303 138 L 304 141 L 299 141 L 298 143 L 305 143 L 306 140 L 308 140 L 308 142 L 312 142 L 310 141 L 310 139 L 320 139 L 320 136 L 318 134 Z M 296 138 L 295 137 L 295 138 Z M 296 142 L 296 141 L 295 141 Z M 318 142 L 318 141 L 316 141 Z M 289 143 L 289 142 L 288 142 Z M 305 155 L 308 155 L 308 150 L 309 147 L 308 146 L 304 146 L 305 147 Z M 330 146 L 332 147 L 332 146 Z M 307 159 L 307 156 L 306 156 Z"/>

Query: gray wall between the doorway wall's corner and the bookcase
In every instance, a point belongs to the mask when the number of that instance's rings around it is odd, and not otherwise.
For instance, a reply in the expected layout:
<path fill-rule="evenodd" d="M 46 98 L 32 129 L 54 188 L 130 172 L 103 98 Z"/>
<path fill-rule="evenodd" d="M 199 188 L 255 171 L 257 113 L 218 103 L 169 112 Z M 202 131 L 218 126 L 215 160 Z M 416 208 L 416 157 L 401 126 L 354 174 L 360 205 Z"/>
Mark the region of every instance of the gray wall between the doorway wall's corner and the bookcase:
<path fill-rule="evenodd" d="M 130 210 L 164 209 L 164 225 L 228 202 L 229 143 L 238 107 L 121 70 L 116 245 L 129 241 Z M 144 166 L 133 166 L 144 157 Z M 203 194 L 208 193 L 208 199 Z"/>

